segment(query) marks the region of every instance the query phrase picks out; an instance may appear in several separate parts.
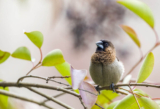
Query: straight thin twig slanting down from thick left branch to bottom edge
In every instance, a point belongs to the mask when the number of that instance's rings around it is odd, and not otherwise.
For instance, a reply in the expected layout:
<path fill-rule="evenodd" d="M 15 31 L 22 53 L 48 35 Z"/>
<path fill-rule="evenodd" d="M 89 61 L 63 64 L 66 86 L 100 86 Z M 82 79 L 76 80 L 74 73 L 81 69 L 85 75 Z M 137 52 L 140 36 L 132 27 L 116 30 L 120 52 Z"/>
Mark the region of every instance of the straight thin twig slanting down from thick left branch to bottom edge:
<path fill-rule="evenodd" d="M 67 109 L 73 109 L 72 107 L 70 107 L 69 105 L 63 103 L 62 101 L 59 101 L 59 100 L 57 100 L 57 99 L 55 99 L 55 98 L 51 98 L 51 97 L 47 96 L 46 94 L 43 94 L 43 93 L 41 93 L 41 92 L 39 92 L 39 91 L 34 90 L 33 88 L 27 87 L 27 89 L 29 89 L 29 90 L 32 91 L 32 92 L 35 92 L 35 93 L 38 94 L 38 95 L 41 95 L 41 96 L 47 98 L 48 100 L 51 100 L 51 101 L 59 104 L 60 106 L 63 106 L 63 107 L 65 107 L 65 108 L 67 108 Z M 44 103 L 44 102 L 42 102 L 42 103 Z"/>

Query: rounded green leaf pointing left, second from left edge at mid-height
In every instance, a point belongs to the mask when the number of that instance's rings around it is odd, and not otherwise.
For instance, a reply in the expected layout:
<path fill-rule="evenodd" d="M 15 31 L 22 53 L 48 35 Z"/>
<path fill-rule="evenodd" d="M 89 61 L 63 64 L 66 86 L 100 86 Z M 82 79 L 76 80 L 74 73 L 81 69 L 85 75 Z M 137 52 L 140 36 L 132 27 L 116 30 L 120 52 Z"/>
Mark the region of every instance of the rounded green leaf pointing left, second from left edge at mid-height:
<path fill-rule="evenodd" d="M 14 58 L 31 61 L 31 54 L 27 47 L 17 48 L 11 55 Z"/>

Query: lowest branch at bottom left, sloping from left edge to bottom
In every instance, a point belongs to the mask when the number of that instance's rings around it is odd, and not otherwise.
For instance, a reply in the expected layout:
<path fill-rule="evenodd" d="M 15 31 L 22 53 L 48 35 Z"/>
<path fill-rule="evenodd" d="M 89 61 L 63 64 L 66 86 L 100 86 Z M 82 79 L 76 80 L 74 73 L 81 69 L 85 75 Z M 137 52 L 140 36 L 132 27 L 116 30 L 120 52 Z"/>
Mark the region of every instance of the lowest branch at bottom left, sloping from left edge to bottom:
<path fill-rule="evenodd" d="M 4 90 L 0 90 L 0 94 L 3 94 L 5 96 L 9 96 L 9 97 L 13 97 L 13 98 L 17 98 L 17 99 L 20 99 L 20 100 L 23 100 L 23 101 L 28 101 L 28 102 L 31 102 L 31 103 L 35 103 L 35 104 L 38 104 L 40 106 L 43 106 L 43 107 L 46 107 L 48 109 L 53 109 L 52 107 L 46 105 L 46 104 L 42 104 L 41 102 L 38 102 L 38 101 L 35 101 L 35 100 L 32 100 L 32 99 L 28 99 L 28 98 L 25 98 L 25 97 L 22 97 L 22 96 L 19 96 L 19 95 L 15 95 L 11 92 L 7 92 L 7 91 L 4 91 Z"/>

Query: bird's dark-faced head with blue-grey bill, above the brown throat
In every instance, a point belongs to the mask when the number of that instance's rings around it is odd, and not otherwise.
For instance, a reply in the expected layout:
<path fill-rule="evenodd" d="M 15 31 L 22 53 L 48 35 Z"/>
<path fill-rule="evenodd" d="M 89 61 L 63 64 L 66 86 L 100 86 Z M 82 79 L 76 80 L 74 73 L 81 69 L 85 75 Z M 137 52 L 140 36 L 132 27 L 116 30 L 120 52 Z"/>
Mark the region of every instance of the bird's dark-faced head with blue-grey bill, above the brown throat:
<path fill-rule="evenodd" d="M 111 51 L 114 52 L 115 51 L 115 48 L 112 42 L 107 40 L 100 40 L 96 42 L 96 45 L 97 45 L 96 52 L 111 52 Z"/>

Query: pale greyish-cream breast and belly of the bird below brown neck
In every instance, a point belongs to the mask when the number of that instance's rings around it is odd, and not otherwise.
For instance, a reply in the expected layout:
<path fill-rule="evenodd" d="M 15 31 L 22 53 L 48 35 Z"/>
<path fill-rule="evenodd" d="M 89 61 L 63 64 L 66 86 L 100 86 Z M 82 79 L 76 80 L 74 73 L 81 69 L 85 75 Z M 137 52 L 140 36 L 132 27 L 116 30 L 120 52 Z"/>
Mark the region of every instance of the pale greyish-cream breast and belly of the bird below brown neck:
<path fill-rule="evenodd" d="M 100 86 L 116 84 L 124 72 L 124 66 L 115 59 L 112 63 L 90 63 L 90 75 L 93 81 Z"/>

